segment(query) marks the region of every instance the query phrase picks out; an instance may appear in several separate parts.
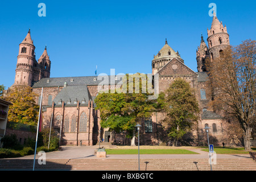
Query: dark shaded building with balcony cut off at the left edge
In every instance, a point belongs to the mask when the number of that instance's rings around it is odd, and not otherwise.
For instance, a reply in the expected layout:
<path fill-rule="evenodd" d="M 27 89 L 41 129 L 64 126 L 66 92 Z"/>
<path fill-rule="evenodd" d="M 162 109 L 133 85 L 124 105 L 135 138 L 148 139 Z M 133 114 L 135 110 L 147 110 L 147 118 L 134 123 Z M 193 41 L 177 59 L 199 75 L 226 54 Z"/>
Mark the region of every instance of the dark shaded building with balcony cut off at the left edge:
<path fill-rule="evenodd" d="M 6 124 L 10 105 L 13 104 L 0 98 L 0 147 L 2 146 L 1 139 L 6 133 Z"/>

